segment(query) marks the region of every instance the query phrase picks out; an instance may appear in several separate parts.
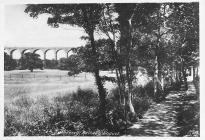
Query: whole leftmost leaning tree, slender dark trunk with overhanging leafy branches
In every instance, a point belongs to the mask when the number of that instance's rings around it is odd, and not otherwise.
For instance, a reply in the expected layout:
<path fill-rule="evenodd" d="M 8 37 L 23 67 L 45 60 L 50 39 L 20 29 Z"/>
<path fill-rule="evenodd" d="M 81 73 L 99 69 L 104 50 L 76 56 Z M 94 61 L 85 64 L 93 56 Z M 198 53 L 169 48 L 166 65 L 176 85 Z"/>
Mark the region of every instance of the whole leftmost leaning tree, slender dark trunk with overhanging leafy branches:
<path fill-rule="evenodd" d="M 38 17 L 39 14 L 48 13 L 51 17 L 48 18 L 48 24 L 52 27 L 59 27 L 60 24 L 69 24 L 82 27 L 89 36 L 89 41 L 92 48 L 93 73 L 95 75 L 96 85 L 98 87 L 100 98 L 100 118 L 103 127 L 106 123 L 106 90 L 103 86 L 99 75 L 99 64 L 97 57 L 97 49 L 94 39 L 94 31 L 99 23 L 102 14 L 101 4 L 40 4 L 27 5 L 25 9 L 31 17 Z"/>

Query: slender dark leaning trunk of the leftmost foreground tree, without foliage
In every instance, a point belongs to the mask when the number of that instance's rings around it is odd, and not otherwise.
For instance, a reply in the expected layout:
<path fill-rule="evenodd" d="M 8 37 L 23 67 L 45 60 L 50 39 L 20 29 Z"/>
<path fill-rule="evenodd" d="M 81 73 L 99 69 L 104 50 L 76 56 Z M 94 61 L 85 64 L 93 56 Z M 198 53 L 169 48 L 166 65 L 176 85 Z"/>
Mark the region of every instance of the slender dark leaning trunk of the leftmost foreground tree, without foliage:
<path fill-rule="evenodd" d="M 94 41 L 94 30 L 89 32 L 90 41 L 91 41 L 91 47 L 92 47 L 92 53 L 93 53 L 93 64 L 94 64 L 94 76 L 95 76 L 95 82 L 98 87 L 98 93 L 100 98 L 100 106 L 99 106 L 99 113 L 101 117 L 101 127 L 104 127 L 106 123 L 106 90 L 103 86 L 102 80 L 100 78 L 99 74 L 99 66 L 98 66 L 98 57 L 97 57 L 97 50 L 95 46 Z"/>

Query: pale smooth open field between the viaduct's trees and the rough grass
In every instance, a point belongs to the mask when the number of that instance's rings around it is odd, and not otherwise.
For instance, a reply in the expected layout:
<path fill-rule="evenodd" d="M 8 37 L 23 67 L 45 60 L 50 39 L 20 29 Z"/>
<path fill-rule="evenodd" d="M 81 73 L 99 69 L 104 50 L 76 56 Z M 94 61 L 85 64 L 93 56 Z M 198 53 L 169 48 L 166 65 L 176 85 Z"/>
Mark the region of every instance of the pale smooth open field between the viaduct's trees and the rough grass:
<path fill-rule="evenodd" d="M 101 75 L 112 75 L 102 71 Z M 110 82 L 105 83 L 109 91 L 114 87 Z M 76 77 L 69 77 L 67 71 L 62 70 L 14 70 L 4 72 L 4 101 L 9 103 L 15 97 L 28 95 L 37 97 L 46 95 L 49 98 L 70 94 L 81 89 L 97 91 L 92 73 L 80 73 Z"/>

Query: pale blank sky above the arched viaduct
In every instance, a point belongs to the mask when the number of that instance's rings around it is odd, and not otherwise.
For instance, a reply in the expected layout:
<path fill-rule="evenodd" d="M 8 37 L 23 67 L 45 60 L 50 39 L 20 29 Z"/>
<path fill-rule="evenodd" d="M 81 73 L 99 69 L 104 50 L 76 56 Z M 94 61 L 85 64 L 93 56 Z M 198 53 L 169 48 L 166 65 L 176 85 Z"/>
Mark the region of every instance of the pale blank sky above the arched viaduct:
<path fill-rule="evenodd" d="M 85 44 L 80 37 L 83 29 L 66 25 L 52 28 L 47 25 L 48 15 L 33 19 L 24 13 L 26 5 L 4 6 L 5 46 L 16 47 L 78 47 Z"/>

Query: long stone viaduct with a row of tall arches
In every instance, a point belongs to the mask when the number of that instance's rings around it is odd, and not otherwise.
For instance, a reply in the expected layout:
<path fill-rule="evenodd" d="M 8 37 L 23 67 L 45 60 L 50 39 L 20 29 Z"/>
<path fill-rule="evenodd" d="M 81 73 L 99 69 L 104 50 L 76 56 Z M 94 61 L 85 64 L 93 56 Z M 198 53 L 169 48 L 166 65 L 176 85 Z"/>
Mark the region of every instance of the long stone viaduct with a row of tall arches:
<path fill-rule="evenodd" d="M 49 47 L 49 48 L 44 48 L 44 47 L 5 47 L 4 52 L 8 53 L 12 58 L 13 58 L 13 53 L 15 51 L 20 52 L 20 57 L 23 56 L 23 54 L 27 51 L 36 53 L 37 51 L 42 51 L 43 53 L 43 59 L 46 60 L 46 54 L 48 51 L 53 50 L 55 53 L 55 60 L 58 58 L 58 53 L 60 51 L 64 51 L 66 53 L 66 57 L 68 57 L 68 53 L 71 51 L 72 47 Z"/>

